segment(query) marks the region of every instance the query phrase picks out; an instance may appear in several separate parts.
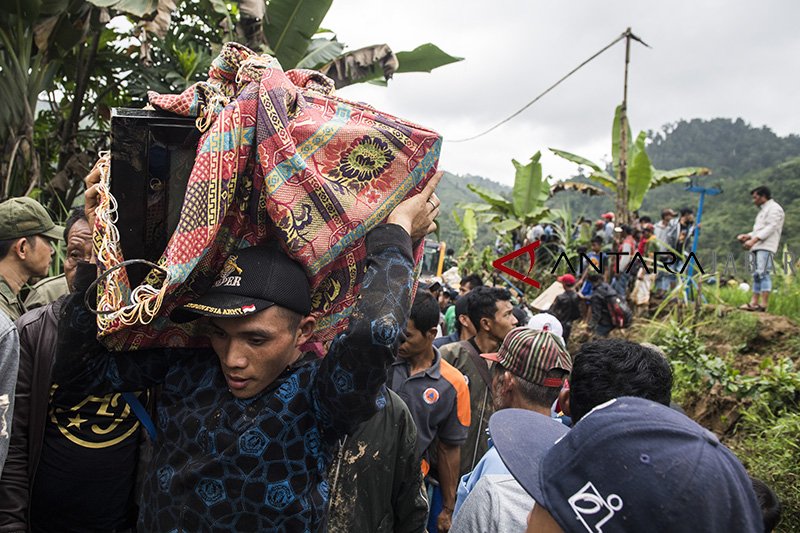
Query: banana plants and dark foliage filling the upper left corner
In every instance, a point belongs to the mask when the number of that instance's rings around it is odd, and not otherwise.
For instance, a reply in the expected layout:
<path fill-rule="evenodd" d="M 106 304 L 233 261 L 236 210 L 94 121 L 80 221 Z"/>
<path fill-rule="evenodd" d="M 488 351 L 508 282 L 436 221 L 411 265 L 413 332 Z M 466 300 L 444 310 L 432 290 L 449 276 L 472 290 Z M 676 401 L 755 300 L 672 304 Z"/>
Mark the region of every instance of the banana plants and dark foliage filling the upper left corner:
<path fill-rule="evenodd" d="M 141 105 L 148 89 L 182 91 L 205 76 L 228 40 L 271 52 L 287 69 L 324 70 L 338 87 L 461 60 L 432 44 L 397 54 L 386 45 L 348 52 L 320 28 L 332 3 L 4 0 L 0 199 L 41 187 L 51 206 L 69 204 L 88 170 L 76 157 L 91 158 L 103 145 L 109 108 Z M 108 25 L 119 16 L 130 24 Z"/>

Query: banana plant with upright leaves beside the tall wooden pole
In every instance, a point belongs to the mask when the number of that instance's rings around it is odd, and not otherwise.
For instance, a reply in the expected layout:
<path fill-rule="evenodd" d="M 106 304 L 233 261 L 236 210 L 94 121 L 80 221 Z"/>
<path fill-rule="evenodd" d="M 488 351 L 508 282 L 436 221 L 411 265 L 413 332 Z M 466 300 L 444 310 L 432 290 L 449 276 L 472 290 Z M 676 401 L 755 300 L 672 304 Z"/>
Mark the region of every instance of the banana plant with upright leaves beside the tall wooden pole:
<path fill-rule="evenodd" d="M 620 213 L 617 213 L 621 222 L 628 222 L 630 213 L 642 206 L 644 197 L 653 187 L 665 185 L 667 183 L 685 183 L 692 176 L 706 176 L 711 170 L 705 167 L 683 167 L 672 170 L 659 170 L 653 167 L 650 157 L 647 155 L 645 142 L 647 136 L 645 132 L 640 132 L 635 141 L 630 141 L 625 150 L 625 163 L 627 167 L 628 179 L 626 187 L 618 185 L 619 165 L 621 162 L 621 140 L 632 139 L 630 135 L 630 125 L 627 119 L 621 115 L 622 106 L 617 106 L 614 113 L 614 123 L 611 128 L 611 155 L 612 167 L 609 173 L 605 168 L 584 157 L 575 155 L 563 150 L 550 148 L 550 151 L 559 157 L 576 163 L 582 167 L 591 169 L 588 179 L 598 185 L 614 192 L 617 195 L 617 205 Z M 623 131 L 625 134 L 623 135 Z M 563 183 L 576 183 L 565 181 Z M 625 198 L 620 198 L 620 195 Z"/>

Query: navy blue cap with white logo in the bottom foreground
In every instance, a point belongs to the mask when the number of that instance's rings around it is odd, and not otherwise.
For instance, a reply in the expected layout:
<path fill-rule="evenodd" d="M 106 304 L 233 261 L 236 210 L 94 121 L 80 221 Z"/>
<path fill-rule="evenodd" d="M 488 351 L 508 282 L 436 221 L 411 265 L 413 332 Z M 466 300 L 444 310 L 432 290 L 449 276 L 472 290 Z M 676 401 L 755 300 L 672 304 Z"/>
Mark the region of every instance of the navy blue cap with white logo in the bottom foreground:
<path fill-rule="evenodd" d="M 504 411 L 498 412 L 498 414 Z M 510 413 L 511 414 L 511 413 Z M 566 532 L 761 532 L 750 478 L 717 437 L 642 398 L 593 409 L 541 455 L 528 419 L 492 439 L 511 474 Z"/>

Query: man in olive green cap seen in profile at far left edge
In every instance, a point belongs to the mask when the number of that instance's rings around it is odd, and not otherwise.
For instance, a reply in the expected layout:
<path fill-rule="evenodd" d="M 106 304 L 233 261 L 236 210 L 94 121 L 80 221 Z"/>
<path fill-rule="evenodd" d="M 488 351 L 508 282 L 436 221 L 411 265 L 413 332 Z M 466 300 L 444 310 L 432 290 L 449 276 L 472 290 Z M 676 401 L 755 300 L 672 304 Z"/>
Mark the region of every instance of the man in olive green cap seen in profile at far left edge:
<path fill-rule="evenodd" d="M 63 233 L 32 198 L 0 203 L 0 311 L 11 320 L 26 311 L 19 292 L 31 278 L 47 275 L 55 252 L 52 241 Z"/>

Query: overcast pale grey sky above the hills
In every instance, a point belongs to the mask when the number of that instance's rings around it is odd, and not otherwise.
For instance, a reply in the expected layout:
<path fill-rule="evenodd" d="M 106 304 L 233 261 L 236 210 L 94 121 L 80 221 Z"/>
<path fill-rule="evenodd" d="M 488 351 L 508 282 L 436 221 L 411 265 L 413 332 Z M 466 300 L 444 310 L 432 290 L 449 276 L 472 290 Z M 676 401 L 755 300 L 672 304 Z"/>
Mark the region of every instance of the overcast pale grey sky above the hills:
<path fill-rule="evenodd" d="M 543 151 L 545 174 L 576 169 L 547 151 L 610 159 L 622 100 L 624 43 L 617 44 L 512 122 L 469 137 L 522 107 L 630 26 L 631 127 L 680 119 L 742 117 L 779 135 L 800 133 L 798 0 L 336 0 L 323 27 L 349 49 L 432 42 L 464 61 L 431 74 L 400 74 L 388 88 L 340 95 L 433 128 L 445 137 L 440 168 L 513 182 L 511 159 Z"/>

